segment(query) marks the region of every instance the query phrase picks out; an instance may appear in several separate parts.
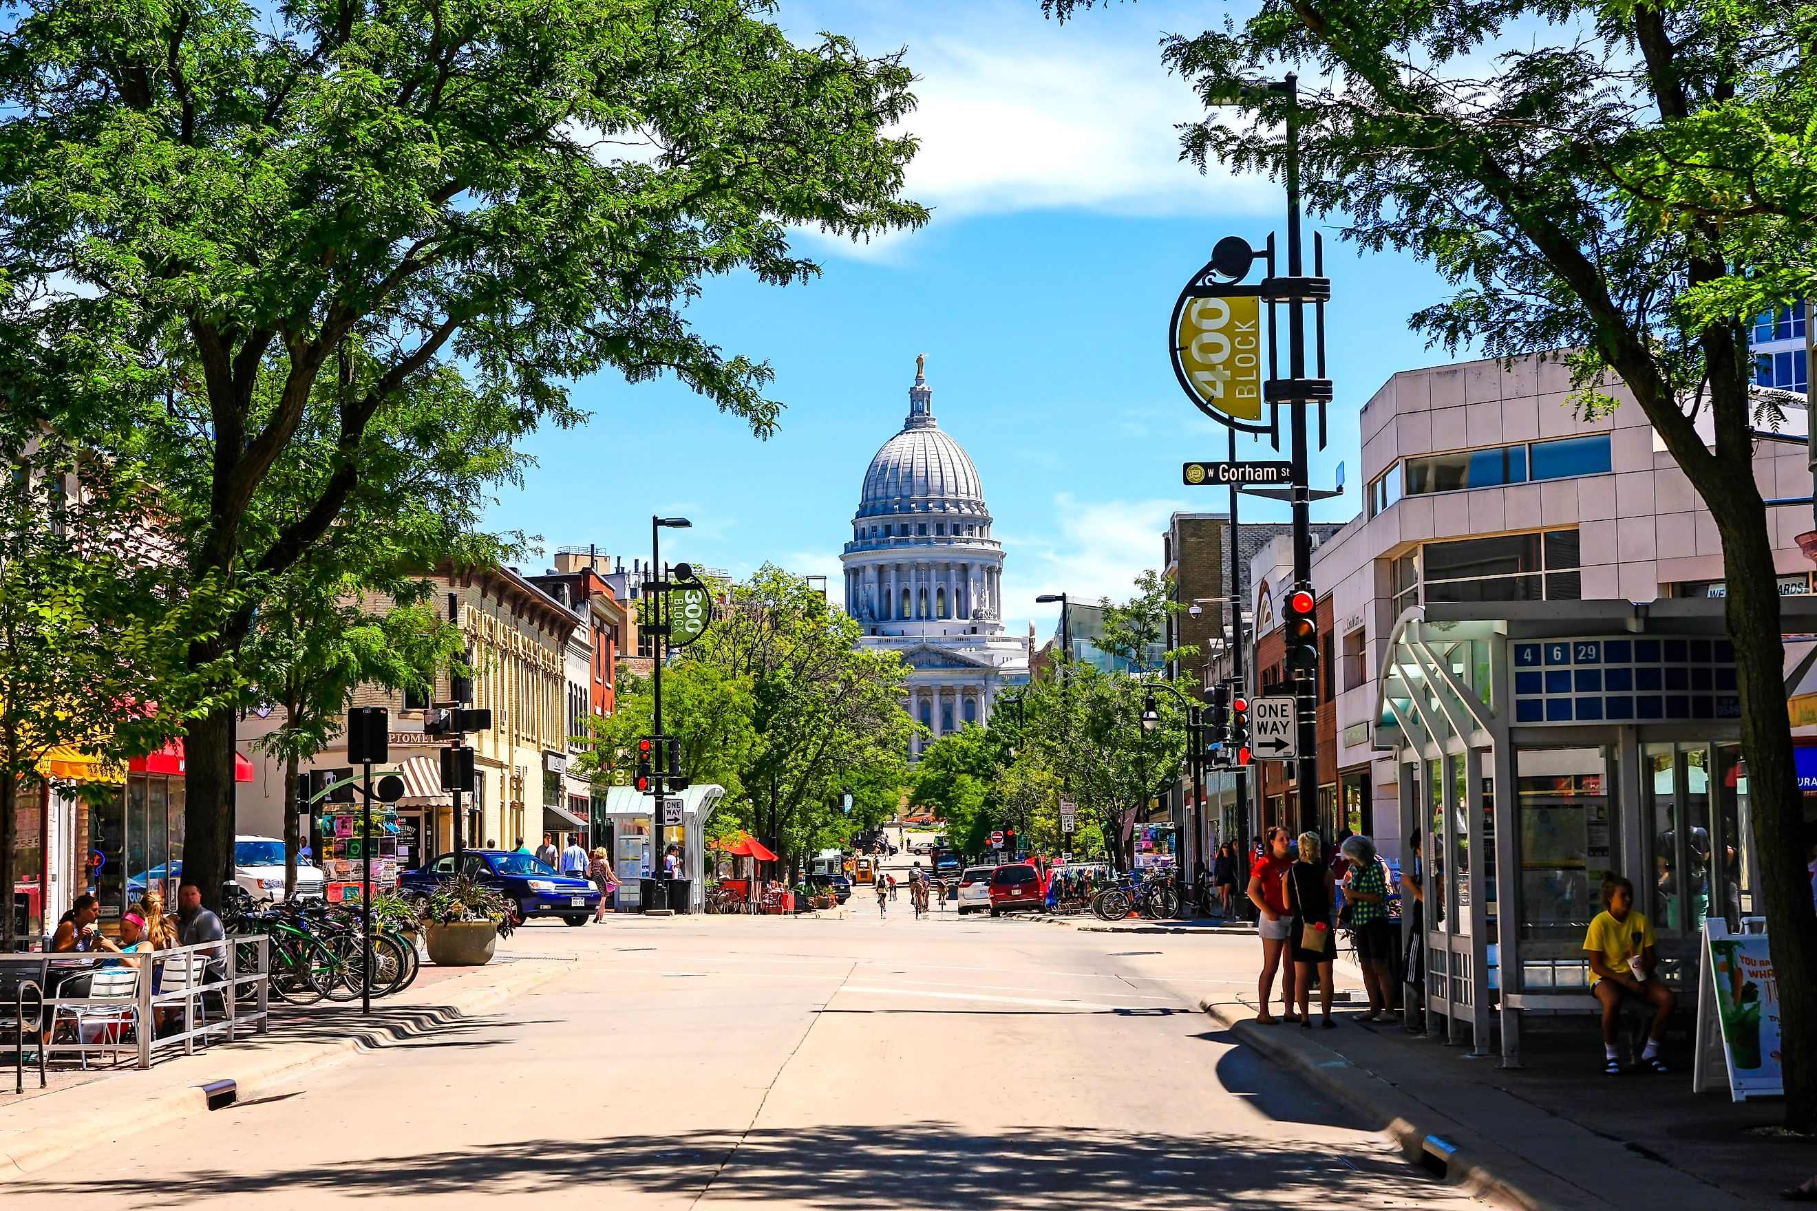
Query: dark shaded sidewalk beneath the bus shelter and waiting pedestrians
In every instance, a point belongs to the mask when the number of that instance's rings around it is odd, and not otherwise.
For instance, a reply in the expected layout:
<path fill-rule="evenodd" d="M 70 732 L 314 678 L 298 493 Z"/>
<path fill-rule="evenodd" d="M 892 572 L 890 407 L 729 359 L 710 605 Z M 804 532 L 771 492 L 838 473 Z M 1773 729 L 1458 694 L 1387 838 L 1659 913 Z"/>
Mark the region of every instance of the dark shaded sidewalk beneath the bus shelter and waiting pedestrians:
<path fill-rule="evenodd" d="M 1817 1171 L 1810 1140 L 1772 1133 L 1777 1104 L 1693 1095 L 1690 1057 L 1672 1051 L 1675 1071 L 1664 1077 L 1604 1077 L 1590 1029 L 1528 1033 L 1528 1066 L 1503 1069 L 1495 1057 L 1470 1058 L 1399 1020 L 1363 1024 L 1345 1008 L 1330 1031 L 1259 1026 L 1252 999 L 1199 1008 L 1388 1131 L 1410 1158 L 1455 1149 L 1450 1180 L 1534 1211 L 1739 1211 L 1777 1202 Z"/>

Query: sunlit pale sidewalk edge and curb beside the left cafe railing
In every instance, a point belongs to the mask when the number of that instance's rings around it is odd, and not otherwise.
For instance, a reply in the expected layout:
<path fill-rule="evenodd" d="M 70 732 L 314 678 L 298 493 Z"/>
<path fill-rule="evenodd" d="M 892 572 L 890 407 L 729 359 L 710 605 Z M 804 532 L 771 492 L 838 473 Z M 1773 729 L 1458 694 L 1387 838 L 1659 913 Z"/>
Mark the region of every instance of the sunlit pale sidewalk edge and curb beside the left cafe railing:
<path fill-rule="evenodd" d="M 331 1042 L 278 1042 L 271 1051 L 238 1051 L 236 1044 L 220 1044 L 193 1057 L 171 1057 L 151 1069 L 127 1069 L 118 1077 L 55 1089 L 38 1097 L 20 1098 L 0 1109 L 0 1175 L 24 1175 L 51 1167 L 78 1155 L 91 1155 L 98 1140 L 160 1127 L 209 1111 L 204 1084 L 233 1080 L 240 1098 L 258 1097 L 262 1089 L 300 1077 L 316 1068 L 327 1068 L 362 1051 L 374 1051 L 392 1042 L 416 1039 L 436 1026 L 483 1013 L 538 984 L 572 971 L 572 960 L 536 962 L 521 975 L 512 973 L 485 988 L 447 988 L 403 1022 L 367 1024 L 362 1031 L 358 1015 L 347 1022 L 347 1035 Z M 427 999 L 425 999 L 427 1000 Z M 265 1039 L 273 1039 L 271 1033 Z M 223 1049 L 225 1048 L 225 1049 Z M 298 1053 L 296 1048 L 305 1048 Z M 213 1071 L 194 1071 L 184 1060 L 220 1057 Z M 225 1068 L 227 1071 L 222 1071 Z M 176 1069 L 176 1071 L 173 1071 Z M 9 1126 L 7 1118 L 20 1118 Z M 4 1178 L 0 1178 L 4 1180 Z"/>

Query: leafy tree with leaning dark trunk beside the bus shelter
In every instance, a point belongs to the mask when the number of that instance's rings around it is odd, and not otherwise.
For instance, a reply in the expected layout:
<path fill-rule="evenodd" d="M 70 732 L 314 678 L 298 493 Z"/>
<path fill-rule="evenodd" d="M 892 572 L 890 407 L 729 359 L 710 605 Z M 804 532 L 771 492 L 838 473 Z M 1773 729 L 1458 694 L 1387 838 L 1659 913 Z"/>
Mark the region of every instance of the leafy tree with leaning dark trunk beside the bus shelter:
<path fill-rule="evenodd" d="M 1092 0 L 1043 0 L 1061 18 Z M 1817 292 L 1810 5 L 1330 4 L 1265 0 L 1165 42 L 1206 102 L 1306 67 L 1288 98 L 1187 129 L 1201 167 L 1285 172 L 1368 251 L 1406 251 L 1454 287 L 1414 325 L 1492 356 L 1568 354 L 1586 412 L 1619 379 L 1708 507 L 1723 543 L 1761 897 L 1784 999 L 1786 1117 L 1817 1131 L 1817 913 L 1784 703 L 1766 507 L 1753 476 L 1748 320 Z M 1228 114 L 1230 111 L 1219 111 Z"/>

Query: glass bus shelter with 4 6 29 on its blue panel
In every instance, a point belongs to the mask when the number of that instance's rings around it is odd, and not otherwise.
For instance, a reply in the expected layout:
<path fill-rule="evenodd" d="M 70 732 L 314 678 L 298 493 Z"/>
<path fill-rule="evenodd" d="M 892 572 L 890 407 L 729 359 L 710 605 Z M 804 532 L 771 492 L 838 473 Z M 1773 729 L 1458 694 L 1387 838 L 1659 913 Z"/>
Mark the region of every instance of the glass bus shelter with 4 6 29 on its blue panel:
<path fill-rule="evenodd" d="M 1817 632 L 1817 603 L 1782 606 L 1788 634 Z M 1608 873 L 1633 881 L 1659 975 L 1695 1008 L 1704 922 L 1761 911 L 1723 603 L 1426 605 L 1379 659 L 1375 748 L 1426 890 L 1403 939 L 1426 1033 L 1488 1055 L 1499 1029 L 1517 1068 L 1523 1017 L 1594 1011 L 1583 942 Z"/>

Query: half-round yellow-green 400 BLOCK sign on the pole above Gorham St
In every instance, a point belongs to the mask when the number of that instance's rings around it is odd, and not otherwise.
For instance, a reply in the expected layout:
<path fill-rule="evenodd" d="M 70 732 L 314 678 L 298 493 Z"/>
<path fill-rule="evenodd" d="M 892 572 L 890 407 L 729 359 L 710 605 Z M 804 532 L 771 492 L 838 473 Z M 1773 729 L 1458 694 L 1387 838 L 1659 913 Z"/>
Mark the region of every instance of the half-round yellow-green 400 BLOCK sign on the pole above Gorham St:
<path fill-rule="evenodd" d="M 1196 409 L 1243 432 L 1268 432 L 1257 287 L 1219 281 L 1206 265 L 1174 301 L 1167 336 L 1174 378 Z"/>

